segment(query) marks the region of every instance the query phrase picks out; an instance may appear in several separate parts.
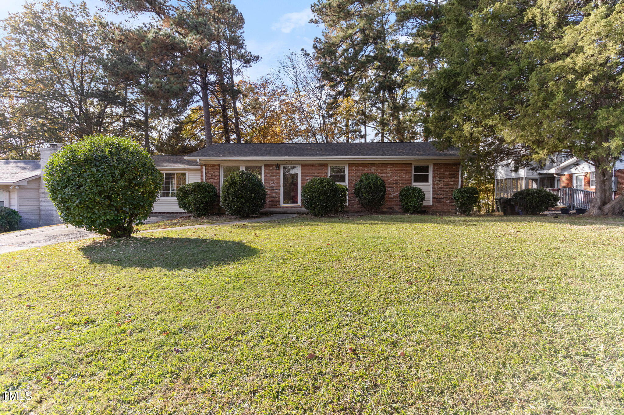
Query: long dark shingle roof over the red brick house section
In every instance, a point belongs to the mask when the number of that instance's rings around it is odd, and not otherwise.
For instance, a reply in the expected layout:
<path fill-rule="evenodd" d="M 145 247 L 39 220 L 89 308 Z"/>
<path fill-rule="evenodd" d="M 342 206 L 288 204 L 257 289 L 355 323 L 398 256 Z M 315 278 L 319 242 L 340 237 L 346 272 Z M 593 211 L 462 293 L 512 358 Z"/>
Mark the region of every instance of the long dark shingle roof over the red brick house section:
<path fill-rule="evenodd" d="M 274 157 L 275 159 L 298 157 L 457 157 L 459 149 L 438 151 L 431 142 L 328 142 L 328 143 L 256 143 L 213 144 L 188 154 L 192 157 Z"/>

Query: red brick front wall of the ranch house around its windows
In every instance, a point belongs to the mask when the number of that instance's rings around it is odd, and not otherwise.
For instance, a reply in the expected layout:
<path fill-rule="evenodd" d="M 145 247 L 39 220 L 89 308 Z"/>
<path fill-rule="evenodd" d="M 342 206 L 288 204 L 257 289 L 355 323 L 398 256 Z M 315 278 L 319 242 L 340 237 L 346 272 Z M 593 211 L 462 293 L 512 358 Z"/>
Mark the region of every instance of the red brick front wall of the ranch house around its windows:
<path fill-rule="evenodd" d="M 265 208 L 300 208 L 298 206 L 280 206 L 280 169 L 275 164 L 265 164 L 264 182 L 266 188 Z M 205 181 L 214 184 L 219 189 L 220 169 L 218 164 L 205 165 Z M 301 164 L 301 187 L 313 177 L 327 177 L 327 164 Z M 358 212 L 361 205 L 353 194 L 353 189 L 359 177 L 364 173 L 378 174 L 386 182 L 385 212 L 401 212 L 399 191 L 402 187 L 412 184 L 411 163 L 351 163 L 348 167 L 349 205 L 348 210 Z M 433 187 L 431 193 L 432 205 L 426 205 L 426 210 L 455 212 L 452 193 L 459 184 L 459 163 L 434 163 Z"/>

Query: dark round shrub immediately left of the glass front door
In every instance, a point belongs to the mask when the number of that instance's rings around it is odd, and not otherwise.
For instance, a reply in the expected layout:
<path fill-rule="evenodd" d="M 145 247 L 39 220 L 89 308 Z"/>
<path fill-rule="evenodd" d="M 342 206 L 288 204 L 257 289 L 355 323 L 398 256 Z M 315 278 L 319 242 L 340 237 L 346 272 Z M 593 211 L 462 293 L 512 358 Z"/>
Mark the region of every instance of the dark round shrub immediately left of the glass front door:
<path fill-rule="evenodd" d="M 257 174 L 238 170 L 223 180 L 221 206 L 230 215 L 248 218 L 265 207 L 266 189 Z"/>

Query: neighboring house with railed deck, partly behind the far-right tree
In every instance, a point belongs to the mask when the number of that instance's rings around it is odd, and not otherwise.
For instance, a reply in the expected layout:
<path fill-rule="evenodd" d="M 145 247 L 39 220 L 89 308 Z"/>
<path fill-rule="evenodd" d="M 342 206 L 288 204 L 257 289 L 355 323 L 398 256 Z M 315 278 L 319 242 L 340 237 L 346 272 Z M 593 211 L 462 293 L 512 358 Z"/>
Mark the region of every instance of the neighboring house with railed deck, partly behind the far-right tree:
<path fill-rule="evenodd" d="M 624 159 L 613 170 L 613 197 L 624 191 Z M 595 167 L 572 156 L 553 156 L 544 166 L 535 163 L 513 171 L 510 163 L 494 169 L 495 197 L 511 197 L 523 189 L 549 189 L 560 196 L 560 204 L 588 208 L 596 190 Z M 574 190 L 567 190 L 574 189 Z"/>

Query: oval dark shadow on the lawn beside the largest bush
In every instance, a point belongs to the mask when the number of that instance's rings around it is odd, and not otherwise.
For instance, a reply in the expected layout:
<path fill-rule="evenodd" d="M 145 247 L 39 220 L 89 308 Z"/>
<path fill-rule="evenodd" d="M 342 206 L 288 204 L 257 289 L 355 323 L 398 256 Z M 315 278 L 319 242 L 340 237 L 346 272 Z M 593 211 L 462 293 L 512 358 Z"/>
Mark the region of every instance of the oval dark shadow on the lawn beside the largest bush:
<path fill-rule="evenodd" d="M 94 241 L 80 251 L 94 264 L 169 270 L 210 268 L 260 253 L 239 241 L 168 237 Z"/>

